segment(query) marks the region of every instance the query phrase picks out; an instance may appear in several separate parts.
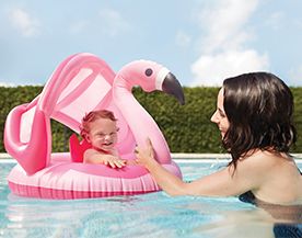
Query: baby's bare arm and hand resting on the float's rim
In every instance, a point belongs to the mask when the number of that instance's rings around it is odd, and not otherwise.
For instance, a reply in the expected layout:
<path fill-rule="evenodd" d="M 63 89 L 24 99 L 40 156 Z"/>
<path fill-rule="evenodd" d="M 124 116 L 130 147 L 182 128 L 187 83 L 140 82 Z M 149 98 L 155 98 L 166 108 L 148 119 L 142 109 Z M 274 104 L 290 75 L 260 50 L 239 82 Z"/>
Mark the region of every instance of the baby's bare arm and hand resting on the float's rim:
<path fill-rule="evenodd" d="M 95 149 L 88 149 L 84 152 L 84 163 L 102 163 L 112 168 L 123 168 L 126 161 L 120 159 L 116 152 L 114 155 L 102 154 Z"/>

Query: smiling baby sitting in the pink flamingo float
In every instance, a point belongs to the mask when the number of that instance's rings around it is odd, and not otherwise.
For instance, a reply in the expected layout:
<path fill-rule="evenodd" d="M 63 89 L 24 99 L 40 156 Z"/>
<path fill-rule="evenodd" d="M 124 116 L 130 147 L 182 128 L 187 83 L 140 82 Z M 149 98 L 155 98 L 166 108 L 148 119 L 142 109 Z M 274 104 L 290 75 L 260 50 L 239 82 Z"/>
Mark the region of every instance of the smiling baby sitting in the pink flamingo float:
<path fill-rule="evenodd" d="M 112 168 L 126 166 L 126 160 L 119 158 L 115 148 L 118 132 L 116 121 L 108 110 L 92 111 L 82 118 L 81 136 L 92 145 L 85 150 L 83 162 L 103 163 Z"/>

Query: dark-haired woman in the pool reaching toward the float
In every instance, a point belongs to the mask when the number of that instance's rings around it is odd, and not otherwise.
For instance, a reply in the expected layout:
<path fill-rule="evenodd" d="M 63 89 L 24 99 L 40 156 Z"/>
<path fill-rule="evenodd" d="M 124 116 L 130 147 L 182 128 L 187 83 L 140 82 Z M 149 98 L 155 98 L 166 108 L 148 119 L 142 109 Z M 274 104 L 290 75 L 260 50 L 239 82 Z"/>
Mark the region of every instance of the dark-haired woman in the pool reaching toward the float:
<path fill-rule="evenodd" d="M 229 166 L 186 183 L 155 160 L 152 144 L 136 148 L 156 183 L 171 195 L 231 196 L 270 204 L 301 204 L 302 177 L 289 155 L 295 141 L 293 97 L 286 83 L 268 72 L 225 79 L 211 121 L 232 156 Z"/>

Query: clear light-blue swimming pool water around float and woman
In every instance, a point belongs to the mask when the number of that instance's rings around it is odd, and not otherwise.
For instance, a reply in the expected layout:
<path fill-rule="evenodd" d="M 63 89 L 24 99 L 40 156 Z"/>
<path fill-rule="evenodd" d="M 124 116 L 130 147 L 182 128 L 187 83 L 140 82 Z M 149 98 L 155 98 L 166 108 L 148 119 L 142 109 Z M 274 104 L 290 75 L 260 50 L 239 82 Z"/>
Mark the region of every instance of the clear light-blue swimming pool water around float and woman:
<path fill-rule="evenodd" d="M 226 161 L 178 163 L 190 181 Z M 0 161 L 0 237 L 274 237 L 272 218 L 236 197 L 171 199 L 163 192 L 72 201 L 15 196 L 7 185 L 14 165 Z"/>

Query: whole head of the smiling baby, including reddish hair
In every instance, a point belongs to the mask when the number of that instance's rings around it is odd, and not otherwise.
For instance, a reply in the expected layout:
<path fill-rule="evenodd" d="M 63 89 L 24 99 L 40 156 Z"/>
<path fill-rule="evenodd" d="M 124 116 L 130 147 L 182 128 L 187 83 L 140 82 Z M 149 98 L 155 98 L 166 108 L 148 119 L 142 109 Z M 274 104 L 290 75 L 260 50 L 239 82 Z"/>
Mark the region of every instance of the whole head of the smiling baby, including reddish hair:
<path fill-rule="evenodd" d="M 95 149 L 109 150 L 117 143 L 116 121 L 111 111 L 92 111 L 82 118 L 80 134 Z"/>

